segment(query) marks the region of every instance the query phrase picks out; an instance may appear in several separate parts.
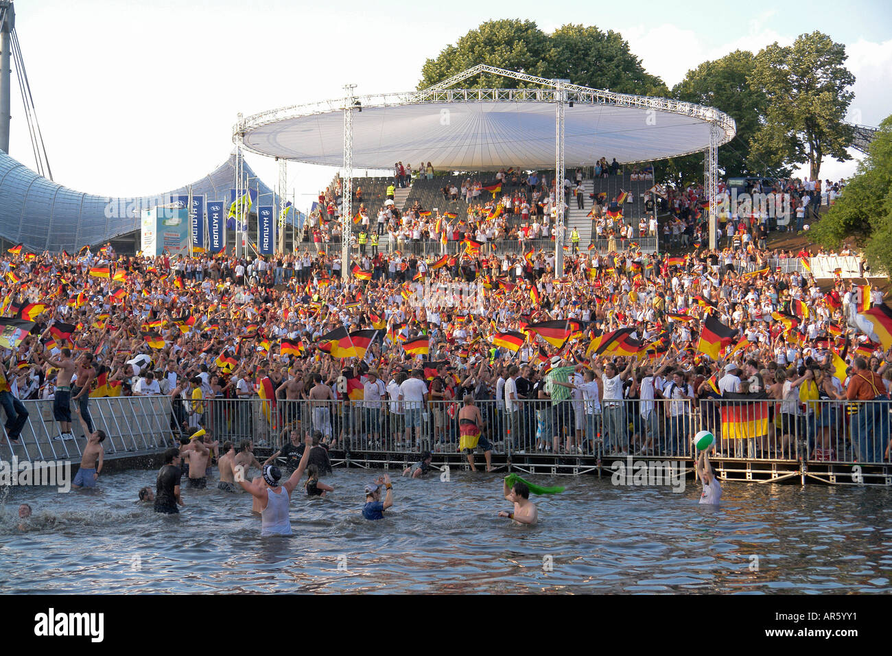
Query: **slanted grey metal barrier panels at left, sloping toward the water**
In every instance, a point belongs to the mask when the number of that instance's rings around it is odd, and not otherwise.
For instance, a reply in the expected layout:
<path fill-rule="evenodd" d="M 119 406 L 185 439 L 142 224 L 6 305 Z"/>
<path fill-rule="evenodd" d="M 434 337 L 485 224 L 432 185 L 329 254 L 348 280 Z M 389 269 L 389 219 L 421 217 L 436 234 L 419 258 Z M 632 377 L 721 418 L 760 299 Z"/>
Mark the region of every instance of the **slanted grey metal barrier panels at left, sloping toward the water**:
<path fill-rule="evenodd" d="M 8 411 L 0 438 L 0 445 L 5 445 L 11 455 L 29 461 L 80 458 L 87 444 L 87 436 L 73 410 L 70 425 L 73 437 L 61 439 L 62 425 L 54 419 L 52 400 L 19 403 L 28 413 L 19 439 L 12 441 L 9 438 L 9 428 L 15 418 Z M 18 411 L 16 416 L 21 421 Z M 89 400 L 83 416 L 88 426 L 103 429 L 106 435 L 103 447 L 111 457 L 152 453 L 165 448 L 172 438 L 180 435 L 174 407 L 167 396 L 93 398 Z"/>

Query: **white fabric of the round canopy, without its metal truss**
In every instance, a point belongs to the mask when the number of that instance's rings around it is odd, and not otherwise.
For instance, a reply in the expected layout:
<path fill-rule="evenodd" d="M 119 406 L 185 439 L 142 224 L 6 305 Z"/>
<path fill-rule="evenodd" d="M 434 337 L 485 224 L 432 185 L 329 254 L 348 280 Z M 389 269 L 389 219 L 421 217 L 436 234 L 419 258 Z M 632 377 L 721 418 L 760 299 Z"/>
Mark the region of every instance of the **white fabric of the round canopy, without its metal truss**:
<path fill-rule="evenodd" d="M 607 104 L 566 107 L 565 162 L 588 166 L 649 162 L 702 151 L 709 123 L 693 116 Z M 244 133 L 260 154 L 296 162 L 343 163 L 343 112 L 285 118 Z M 394 162 L 438 169 L 554 168 L 555 105 L 541 102 L 448 102 L 367 106 L 353 112 L 353 166 Z"/>

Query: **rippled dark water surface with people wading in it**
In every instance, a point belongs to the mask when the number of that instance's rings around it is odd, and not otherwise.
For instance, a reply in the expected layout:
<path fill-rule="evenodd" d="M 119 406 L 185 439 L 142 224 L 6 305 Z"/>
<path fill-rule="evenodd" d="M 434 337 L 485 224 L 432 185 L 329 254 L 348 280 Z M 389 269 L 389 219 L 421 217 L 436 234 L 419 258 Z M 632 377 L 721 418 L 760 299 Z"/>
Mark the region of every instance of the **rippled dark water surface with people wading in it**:
<path fill-rule="evenodd" d="M 216 471 L 216 470 L 215 470 Z M 614 487 L 609 478 L 536 497 L 540 523 L 514 527 L 496 474 L 394 478 L 385 519 L 362 519 L 378 472 L 337 470 L 330 499 L 291 503 L 294 536 L 260 538 L 248 494 L 183 487 L 178 517 L 135 503 L 154 471 L 110 473 L 101 488 L 0 491 L 0 593 L 203 592 L 892 592 L 888 490 Z M 216 486 L 216 476 L 211 484 Z M 21 530 L 18 505 L 35 510 Z"/>

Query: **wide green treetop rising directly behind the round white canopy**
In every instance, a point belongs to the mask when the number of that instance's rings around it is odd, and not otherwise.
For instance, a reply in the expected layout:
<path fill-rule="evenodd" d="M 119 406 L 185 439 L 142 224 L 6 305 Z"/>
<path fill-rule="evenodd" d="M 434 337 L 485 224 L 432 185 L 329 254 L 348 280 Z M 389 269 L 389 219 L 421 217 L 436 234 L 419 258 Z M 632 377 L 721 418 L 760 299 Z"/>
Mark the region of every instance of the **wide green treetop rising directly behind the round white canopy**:
<path fill-rule="evenodd" d="M 564 78 L 584 87 L 619 93 L 668 95 L 663 80 L 644 70 L 623 37 L 596 27 L 565 25 L 547 35 L 533 21 L 487 21 L 446 46 L 421 69 L 418 88 L 430 87 L 478 63 L 542 78 Z M 463 87 L 534 87 L 520 80 L 481 75 Z"/>

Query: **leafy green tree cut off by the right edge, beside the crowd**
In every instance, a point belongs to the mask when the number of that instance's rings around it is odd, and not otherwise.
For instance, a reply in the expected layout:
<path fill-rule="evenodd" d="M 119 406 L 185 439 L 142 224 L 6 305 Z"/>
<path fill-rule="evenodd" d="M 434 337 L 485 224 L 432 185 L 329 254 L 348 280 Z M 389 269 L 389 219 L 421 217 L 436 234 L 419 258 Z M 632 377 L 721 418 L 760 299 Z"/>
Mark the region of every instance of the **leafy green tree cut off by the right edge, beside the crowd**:
<path fill-rule="evenodd" d="M 892 271 L 892 116 L 880 123 L 870 153 L 811 237 L 830 248 L 851 238 L 866 246 L 871 267 Z"/>

